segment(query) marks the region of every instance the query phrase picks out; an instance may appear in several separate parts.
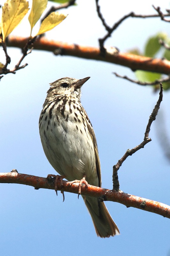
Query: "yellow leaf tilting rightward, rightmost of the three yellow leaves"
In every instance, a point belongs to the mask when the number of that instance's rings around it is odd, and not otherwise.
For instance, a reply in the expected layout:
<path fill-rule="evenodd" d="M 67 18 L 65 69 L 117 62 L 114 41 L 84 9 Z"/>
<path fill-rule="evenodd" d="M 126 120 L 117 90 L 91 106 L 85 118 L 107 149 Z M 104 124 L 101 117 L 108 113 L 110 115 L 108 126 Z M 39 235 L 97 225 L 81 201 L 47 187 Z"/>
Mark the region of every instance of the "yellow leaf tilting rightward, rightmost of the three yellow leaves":
<path fill-rule="evenodd" d="M 38 34 L 36 36 L 53 29 L 55 26 L 60 24 L 60 22 L 62 22 L 66 17 L 67 15 L 63 13 L 51 12 L 48 17 L 42 21 Z"/>

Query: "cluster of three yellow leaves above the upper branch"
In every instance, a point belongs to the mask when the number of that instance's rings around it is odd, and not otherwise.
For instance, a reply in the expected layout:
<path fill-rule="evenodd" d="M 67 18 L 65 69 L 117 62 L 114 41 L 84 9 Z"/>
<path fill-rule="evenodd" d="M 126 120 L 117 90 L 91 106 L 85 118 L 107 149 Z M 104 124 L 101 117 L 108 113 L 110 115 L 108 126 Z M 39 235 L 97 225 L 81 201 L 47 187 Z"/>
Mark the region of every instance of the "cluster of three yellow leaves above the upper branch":
<path fill-rule="evenodd" d="M 33 0 L 31 11 L 28 17 L 31 32 L 30 37 L 32 36 L 32 30 L 42 13 L 47 7 L 48 0 Z M 7 0 L 2 7 L 2 22 L 1 22 L 1 32 L 3 37 L 3 42 L 5 42 L 6 37 L 13 31 L 14 28 L 18 26 L 20 21 L 29 11 L 29 3 L 26 0 Z M 39 28 L 38 33 L 35 36 L 41 35 L 59 23 L 61 23 L 67 15 L 59 12 L 51 12 L 47 18 L 45 18 Z"/>

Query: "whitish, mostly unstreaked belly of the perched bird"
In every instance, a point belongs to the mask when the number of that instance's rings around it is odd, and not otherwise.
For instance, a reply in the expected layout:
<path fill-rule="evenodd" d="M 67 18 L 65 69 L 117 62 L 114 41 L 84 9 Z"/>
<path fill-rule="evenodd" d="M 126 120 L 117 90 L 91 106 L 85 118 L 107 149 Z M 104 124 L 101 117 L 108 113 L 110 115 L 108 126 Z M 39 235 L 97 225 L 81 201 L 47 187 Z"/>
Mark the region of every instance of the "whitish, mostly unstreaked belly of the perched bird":
<path fill-rule="evenodd" d="M 87 182 L 98 186 L 94 146 L 85 124 L 75 122 L 71 115 L 67 121 L 63 116 L 49 121 L 41 142 L 53 168 L 69 181 L 80 180 L 85 175 Z M 40 135 L 44 130 L 42 120 Z"/>

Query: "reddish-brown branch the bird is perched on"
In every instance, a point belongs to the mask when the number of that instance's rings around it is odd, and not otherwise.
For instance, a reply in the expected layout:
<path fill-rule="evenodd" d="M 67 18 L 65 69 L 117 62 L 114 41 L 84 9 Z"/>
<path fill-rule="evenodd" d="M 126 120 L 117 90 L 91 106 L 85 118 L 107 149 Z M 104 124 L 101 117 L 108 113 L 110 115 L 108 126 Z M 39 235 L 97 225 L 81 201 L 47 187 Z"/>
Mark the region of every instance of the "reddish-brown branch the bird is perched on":
<path fill-rule="evenodd" d="M 54 184 L 50 185 L 46 178 L 21 174 L 17 172 L 0 173 L 0 183 L 24 184 L 33 186 L 35 189 L 54 189 L 55 186 Z M 60 184 L 58 184 L 58 186 L 60 186 Z M 78 194 L 78 183 L 72 184 L 70 186 L 67 181 L 63 181 L 63 187 L 58 187 L 58 190 Z M 124 204 L 127 207 L 135 207 L 144 211 L 154 212 L 170 219 L 170 206 L 153 200 L 129 195 L 124 192 L 116 192 L 110 189 L 94 187 L 91 185 L 88 185 L 88 187 L 82 186 L 81 193 L 83 195 L 103 198 L 105 201 L 113 201 Z"/>

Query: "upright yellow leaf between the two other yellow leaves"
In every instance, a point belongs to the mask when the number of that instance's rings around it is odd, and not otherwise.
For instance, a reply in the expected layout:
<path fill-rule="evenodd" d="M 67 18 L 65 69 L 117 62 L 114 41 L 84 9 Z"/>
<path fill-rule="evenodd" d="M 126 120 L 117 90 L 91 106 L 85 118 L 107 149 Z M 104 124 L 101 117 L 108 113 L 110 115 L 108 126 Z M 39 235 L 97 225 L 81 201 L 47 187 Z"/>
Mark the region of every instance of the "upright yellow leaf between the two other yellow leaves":
<path fill-rule="evenodd" d="M 32 33 L 33 27 L 35 26 L 37 21 L 40 19 L 41 14 L 44 12 L 46 7 L 47 7 L 47 0 L 33 0 L 31 12 L 28 17 L 28 20 L 31 25 L 31 33 Z"/>

